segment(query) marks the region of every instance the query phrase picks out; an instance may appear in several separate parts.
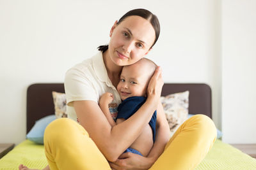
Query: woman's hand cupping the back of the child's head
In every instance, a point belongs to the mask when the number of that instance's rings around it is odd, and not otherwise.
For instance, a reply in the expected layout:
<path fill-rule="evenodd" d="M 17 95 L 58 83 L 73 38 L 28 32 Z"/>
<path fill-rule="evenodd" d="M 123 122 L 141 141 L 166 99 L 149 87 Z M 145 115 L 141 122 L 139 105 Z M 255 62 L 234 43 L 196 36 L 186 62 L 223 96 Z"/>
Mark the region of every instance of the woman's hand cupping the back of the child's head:
<path fill-rule="evenodd" d="M 148 83 L 147 96 L 160 98 L 164 81 L 162 78 L 162 69 L 160 66 L 157 67 L 155 73 Z"/>

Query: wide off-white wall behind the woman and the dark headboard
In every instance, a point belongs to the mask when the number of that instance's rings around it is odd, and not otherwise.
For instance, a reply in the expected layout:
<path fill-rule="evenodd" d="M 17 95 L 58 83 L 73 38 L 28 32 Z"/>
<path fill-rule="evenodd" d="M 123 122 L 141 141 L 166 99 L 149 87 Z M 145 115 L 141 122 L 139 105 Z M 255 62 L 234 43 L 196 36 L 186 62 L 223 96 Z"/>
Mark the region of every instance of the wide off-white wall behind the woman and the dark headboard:
<path fill-rule="evenodd" d="M 221 128 L 220 0 L 0 0 L 0 143 L 25 139 L 28 85 L 63 82 L 65 71 L 108 43 L 115 20 L 133 8 L 159 17 L 161 35 L 148 57 L 163 67 L 164 81 L 211 85 Z"/>

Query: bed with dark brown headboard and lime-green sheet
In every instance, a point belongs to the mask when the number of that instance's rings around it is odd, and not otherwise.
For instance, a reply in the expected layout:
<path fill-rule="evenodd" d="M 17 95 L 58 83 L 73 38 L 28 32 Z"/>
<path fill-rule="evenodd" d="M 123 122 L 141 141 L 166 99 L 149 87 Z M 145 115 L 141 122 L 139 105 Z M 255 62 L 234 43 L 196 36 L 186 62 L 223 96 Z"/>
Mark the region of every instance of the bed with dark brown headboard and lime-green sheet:
<path fill-rule="evenodd" d="M 162 96 L 189 90 L 189 113 L 212 117 L 211 88 L 200 83 L 165 83 Z M 36 83 L 27 91 L 27 133 L 35 121 L 54 114 L 52 91 L 65 92 L 63 83 Z M 19 164 L 42 169 L 47 165 L 44 145 L 26 139 L 0 159 L 0 169 L 18 169 Z M 170 168 L 171 169 L 171 168 Z M 196 167 L 200 169 L 256 169 L 256 159 L 217 139 L 204 160 Z"/>

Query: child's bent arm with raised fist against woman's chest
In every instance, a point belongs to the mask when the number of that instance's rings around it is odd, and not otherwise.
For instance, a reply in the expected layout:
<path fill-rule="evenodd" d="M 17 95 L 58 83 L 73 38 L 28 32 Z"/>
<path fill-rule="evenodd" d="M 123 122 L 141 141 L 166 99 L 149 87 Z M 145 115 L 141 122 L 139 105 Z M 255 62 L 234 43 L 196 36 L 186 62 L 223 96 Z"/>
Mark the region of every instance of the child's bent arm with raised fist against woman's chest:
<path fill-rule="evenodd" d="M 108 104 L 110 104 L 113 101 L 113 99 L 114 99 L 113 94 L 106 92 L 102 94 L 102 96 L 100 96 L 100 101 L 99 101 L 100 109 L 106 116 L 111 127 L 116 125 L 116 122 L 111 117 L 111 113 L 109 112 L 109 108 L 108 108 Z"/>

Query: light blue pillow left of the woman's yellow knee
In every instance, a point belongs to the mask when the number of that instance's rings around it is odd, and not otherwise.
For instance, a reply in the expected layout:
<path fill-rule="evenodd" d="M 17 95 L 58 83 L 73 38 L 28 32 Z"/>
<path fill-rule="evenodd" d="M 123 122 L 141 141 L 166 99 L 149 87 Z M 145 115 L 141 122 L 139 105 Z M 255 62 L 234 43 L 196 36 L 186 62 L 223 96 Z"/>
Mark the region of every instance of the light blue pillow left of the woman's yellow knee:
<path fill-rule="evenodd" d="M 44 144 L 44 131 L 48 124 L 56 119 L 55 115 L 49 115 L 47 117 L 36 120 L 35 125 L 28 132 L 27 138 L 35 143 Z"/>

